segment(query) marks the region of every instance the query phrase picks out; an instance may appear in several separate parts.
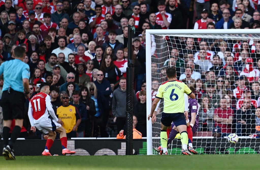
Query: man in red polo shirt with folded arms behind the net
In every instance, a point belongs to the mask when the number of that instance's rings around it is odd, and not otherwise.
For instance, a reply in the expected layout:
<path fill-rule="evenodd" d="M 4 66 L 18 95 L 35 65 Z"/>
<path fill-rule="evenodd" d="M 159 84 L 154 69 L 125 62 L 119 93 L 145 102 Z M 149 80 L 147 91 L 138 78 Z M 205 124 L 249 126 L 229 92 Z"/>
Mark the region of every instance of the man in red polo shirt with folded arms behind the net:
<path fill-rule="evenodd" d="M 216 122 L 216 126 L 221 128 L 222 137 L 228 136 L 232 129 L 232 119 L 234 119 L 234 111 L 231 108 L 227 108 L 227 100 L 222 98 L 220 100 L 220 107 L 215 109 L 213 119 Z"/>

